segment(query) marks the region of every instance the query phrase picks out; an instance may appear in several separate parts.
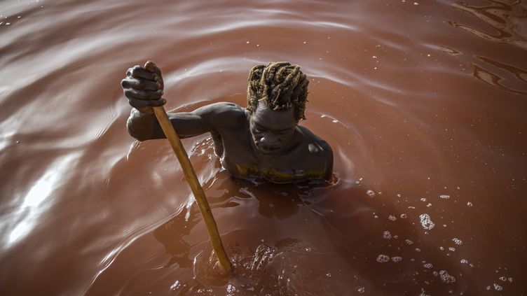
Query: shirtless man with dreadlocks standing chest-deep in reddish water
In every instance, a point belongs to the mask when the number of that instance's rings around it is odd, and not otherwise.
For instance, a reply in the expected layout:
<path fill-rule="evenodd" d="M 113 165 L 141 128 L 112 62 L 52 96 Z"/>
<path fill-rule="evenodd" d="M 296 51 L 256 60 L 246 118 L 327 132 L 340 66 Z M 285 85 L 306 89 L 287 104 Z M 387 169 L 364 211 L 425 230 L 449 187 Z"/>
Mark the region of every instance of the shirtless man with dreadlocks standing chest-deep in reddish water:
<path fill-rule="evenodd" d="M 169 113 L 181 138 L 210 132 L 214 152 L 232 176 L 265 178 L 274 183 L 329 180 L 333 152 L 306 127 L 308 79 L 299 66 L 275 62 L 249 73 L 247 108 L 215 103 L 192 112 Z M 134 66 L 121 81 L 132 107 L 127 127 L 139 141 L 165 138 L 153 106 L 163 106 L 163 78 L 155 64 Z"/>

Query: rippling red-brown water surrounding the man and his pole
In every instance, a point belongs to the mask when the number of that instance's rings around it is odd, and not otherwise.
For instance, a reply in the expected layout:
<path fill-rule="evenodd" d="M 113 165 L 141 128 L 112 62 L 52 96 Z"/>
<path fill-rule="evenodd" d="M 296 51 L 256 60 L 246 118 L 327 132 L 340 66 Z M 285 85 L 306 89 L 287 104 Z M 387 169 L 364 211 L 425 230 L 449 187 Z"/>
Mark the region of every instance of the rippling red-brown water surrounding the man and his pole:
<path fill-rule="evenodd" d="M 1 295 L 527 295 L 525 1 L 2 1 Z M 235 275 L 166 141 L 128 136 L 126 69 L 167 108 L 310 77 L 335 180 L 233 179 L 184 140 Z"/>

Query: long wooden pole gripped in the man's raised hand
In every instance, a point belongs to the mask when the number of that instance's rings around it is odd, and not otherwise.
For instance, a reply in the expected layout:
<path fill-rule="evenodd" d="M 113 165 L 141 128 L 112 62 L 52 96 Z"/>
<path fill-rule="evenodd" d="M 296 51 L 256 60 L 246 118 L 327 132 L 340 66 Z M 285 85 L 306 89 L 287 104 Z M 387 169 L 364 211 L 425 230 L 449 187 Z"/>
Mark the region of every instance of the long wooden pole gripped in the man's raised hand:
<path fill-rule="evenodd" d="M 145 69 L 148 71 L 153 68 L 153 66 L 149 63 L 152 62 L 148 61 L 144 65 Z M 165 136 L 170 142 L 170 146 L 172 146 L 172 150 L 174 150 L 174 153 L 176 154 L 177 160 L 179 160 L 179 164 L 182 166 L 186 181 L 191 186 L 194 197 L 196 197 L 196 202 L 200 208 L 201 216 L 203 216 L 205 225 L 207 225 L 207 232 L 209 233 L 212 248 L 214 249 L 214 253 L 216 253 L 218 256 L 219 264 L 221 267 L 223 267 L 223 269 L 225 269 L 226 272 L 231 272 L 231 262 L 228 260 L 227 254 L 225 253 L 224 245 L 221 244 L 221 237 L 219 237 L 216 221 L 214 220 L 214 216 L 212 216 L 212 211 L 210 211 L 210 206 L 207 202 L 207 197 L 205 197 L 205 192 L 203 192 L 203 188 L 201 188 L 198 177 L 196 176 L 196 172 L 194 171 L 191 161 L 189 160 L 189 155 L 186 154 L 186 150 L 183 147 L 181 139 L 179 139 L 172 122 L 170 122 L 165 108 L 163 108 L 163 106 L 153 107 L 153 113 L 156 114 L 156 118 L 158 118 L 161 129 L 163 129 Z"/>

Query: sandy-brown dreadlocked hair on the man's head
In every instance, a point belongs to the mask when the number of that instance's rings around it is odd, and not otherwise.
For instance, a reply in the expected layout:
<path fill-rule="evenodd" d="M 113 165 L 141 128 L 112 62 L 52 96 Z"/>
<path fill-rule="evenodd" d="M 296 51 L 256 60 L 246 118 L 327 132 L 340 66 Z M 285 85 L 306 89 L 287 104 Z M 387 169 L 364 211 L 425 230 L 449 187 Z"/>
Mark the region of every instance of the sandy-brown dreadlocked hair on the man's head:
<path fill-rule="evenodd" d="M 300 67 L 289 62 L 271 62 L 252 67 L 247 87 L 247 110 L 256 111 L 259 101 L 265 101 L 271 110 L 294 107 L 296 121 L 306 119 L 308 83 Z"/>

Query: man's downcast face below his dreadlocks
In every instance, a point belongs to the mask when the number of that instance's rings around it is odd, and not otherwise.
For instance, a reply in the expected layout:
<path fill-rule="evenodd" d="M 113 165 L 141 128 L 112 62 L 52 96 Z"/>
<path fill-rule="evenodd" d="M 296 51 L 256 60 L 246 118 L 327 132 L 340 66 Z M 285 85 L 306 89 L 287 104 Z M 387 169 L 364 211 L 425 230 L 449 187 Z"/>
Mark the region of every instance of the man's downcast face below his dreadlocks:
<path fill-rule="evenodd" d="M 256 148 L 262 153 L 271 154 L 283 148 L 291 139 L 296 123 L 294 108 L 273 111 L 260 101 L 249 118 L 249 129 Z"/>

